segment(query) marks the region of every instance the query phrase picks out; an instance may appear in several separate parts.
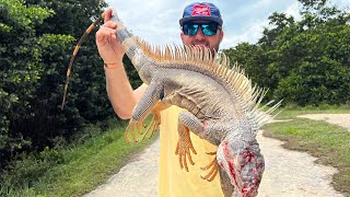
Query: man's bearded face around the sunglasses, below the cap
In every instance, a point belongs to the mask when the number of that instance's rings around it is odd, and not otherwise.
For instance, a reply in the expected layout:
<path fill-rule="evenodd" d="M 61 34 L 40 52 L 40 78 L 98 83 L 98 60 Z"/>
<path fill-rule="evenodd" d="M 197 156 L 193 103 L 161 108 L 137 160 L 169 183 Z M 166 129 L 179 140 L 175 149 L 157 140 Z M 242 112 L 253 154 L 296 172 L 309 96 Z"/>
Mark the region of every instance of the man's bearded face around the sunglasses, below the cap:
<path fill-rule="evenodd" d="M 210 23 L 208 21 L 191 21 L 192 24 Z M 202 27 L 199 27 L 196 35 L 186 35 L 184 32 L 180 34 L 182 40 L 185 45 L 207 47 L 212 53 L 219 50 L 219 45 L 223 38 L 222 30 L 218 28 L 215 35 L 205 35 Z"/>

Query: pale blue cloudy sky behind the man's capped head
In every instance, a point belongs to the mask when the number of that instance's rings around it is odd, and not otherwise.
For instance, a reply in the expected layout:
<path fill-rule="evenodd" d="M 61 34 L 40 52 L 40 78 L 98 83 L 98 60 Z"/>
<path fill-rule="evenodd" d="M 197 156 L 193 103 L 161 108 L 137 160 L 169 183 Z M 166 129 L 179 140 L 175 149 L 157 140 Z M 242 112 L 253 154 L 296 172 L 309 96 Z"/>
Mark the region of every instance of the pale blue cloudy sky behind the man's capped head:
<path fill-rule="evenodd" d="M 142 39 L 156 45 L 180 44 L 178 20 L 184 8 L 196 1 L 180 0 L 106 0 L 115 8 L 125 25 Z M 261 37 L 268 16 L 273 12 L 299 19 L 296 0 L 212 0 L 221 11 L 224 38 L 221 48 L 238 43 L 255 44 Z M 350 0 L 331 0 L 339 7 L 350 5 Z"/>

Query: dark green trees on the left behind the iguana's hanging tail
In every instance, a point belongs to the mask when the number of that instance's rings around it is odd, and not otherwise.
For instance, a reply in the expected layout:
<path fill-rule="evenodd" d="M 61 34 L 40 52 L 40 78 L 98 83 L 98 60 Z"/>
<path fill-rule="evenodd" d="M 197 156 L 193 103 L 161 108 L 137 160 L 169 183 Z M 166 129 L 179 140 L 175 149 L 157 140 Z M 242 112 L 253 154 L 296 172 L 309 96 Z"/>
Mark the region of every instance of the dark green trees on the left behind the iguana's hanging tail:
<path fill-rule="evenodd" d="M 52 146 L 56 137 L 69 139 L 113 115 L 93 36 L 81 47 L 68 104 L 59 108 L 75 40 L 105 5 L 100 0 L 0 0 L 1 161 Z"/>

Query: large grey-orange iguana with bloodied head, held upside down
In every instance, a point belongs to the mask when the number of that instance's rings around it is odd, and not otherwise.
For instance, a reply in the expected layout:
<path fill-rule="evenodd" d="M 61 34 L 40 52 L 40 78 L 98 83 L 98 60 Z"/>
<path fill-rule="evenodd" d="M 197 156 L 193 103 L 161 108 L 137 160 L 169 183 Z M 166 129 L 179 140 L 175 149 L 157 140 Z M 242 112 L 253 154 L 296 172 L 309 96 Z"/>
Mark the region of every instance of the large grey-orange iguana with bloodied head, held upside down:
<path fill-rule="evenodd" d="M 176 105 L 187 111 L 178 115 L 178 142 L 176 153 L 179 164 L 187 170 L 187 159 L 192 164 L 190 151 L 195 149 L 189 132 L 218 146 L 215 159 L 203 170 L 203 177 L 212 181 L 220 174 L 224 196 L 256 196 L 265 161 L 256 140 L 258 129 L 270 118 L 280 102 L 262 111 L 259 107 L 266 94 L 264 89 L 250 86 L 238 66 L 229 68 L 224 54 L 219 60 L 209 49 L 190 46 L 153 46 L 133 36 L 119 20 L 116 12 L 110 19 L 117 23 L 117 37 L 131 59 L 141 80 L 149 86 L 133 108 L 126 129 L 135 134 L 153 134 L 160 123 L 158 103 Z M 69 74 L 68 74 L 69 77 Z M 153 114 L 145 134 L 141 134 L 143 120 Z M 143 137 L 144 137 L 143 136 Z M 187 157 L 187 159 L 186 159 Z"/>

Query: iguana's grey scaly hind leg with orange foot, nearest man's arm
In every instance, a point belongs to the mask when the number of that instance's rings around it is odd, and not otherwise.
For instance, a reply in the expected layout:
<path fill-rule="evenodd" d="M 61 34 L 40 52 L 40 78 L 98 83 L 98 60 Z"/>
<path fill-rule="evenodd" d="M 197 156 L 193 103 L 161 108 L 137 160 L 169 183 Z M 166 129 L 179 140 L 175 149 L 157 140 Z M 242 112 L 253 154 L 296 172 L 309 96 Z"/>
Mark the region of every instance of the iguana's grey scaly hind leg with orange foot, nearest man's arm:
<path fill-rule="evenodd" d="M 161 93 L 163 94 L 162 91 L 164 91 L 163 86 L 159 85 L 159 83 L 154 81 L 150 83 L 140 102 L 136 105 L 136 107 L 132 111 L 132 117 L 125 132 L 125 138 L 127 142 L 130 141 L 128 137 L 129 132 L 131 134 L 133 142 L 138 141 L 135 137 L 135 132 L 137 131 L 139 136 L 142 135 L 141 128 L 144 125 L 143 120 L 154 108 L 156 103 L 160 101 Z"/>

